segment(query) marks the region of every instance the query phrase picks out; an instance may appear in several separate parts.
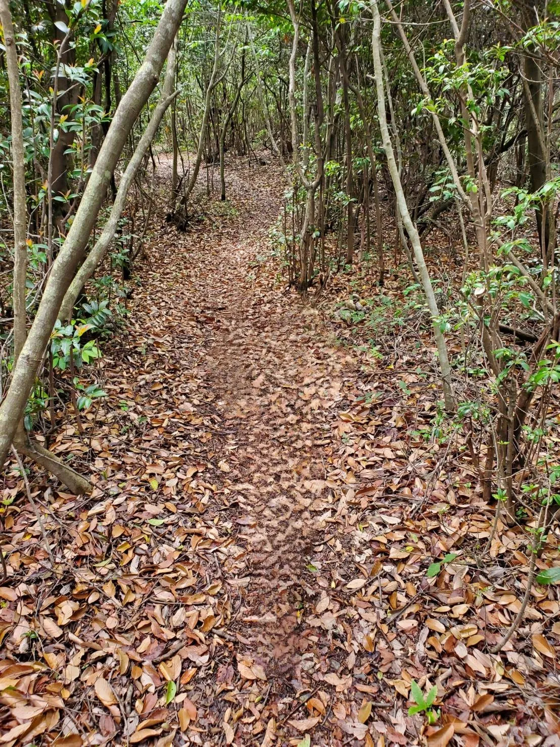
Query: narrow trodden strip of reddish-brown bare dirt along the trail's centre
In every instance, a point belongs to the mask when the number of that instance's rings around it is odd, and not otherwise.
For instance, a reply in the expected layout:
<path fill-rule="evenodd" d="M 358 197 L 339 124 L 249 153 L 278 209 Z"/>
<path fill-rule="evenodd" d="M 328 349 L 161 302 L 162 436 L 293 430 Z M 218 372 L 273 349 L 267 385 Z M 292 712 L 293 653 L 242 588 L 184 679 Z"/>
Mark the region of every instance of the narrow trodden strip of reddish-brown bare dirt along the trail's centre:
<path fill-rule="evenodd" d="M 249 220 L 195 270 L 203 279 L 195 303 L 217 318 L 202 377 L 231 431 L 224 466 L 243 509 L 237 540 L 246 546 L 249 583 L 237 628 L 255 654 L 289 667 L 299 660 L 290 659 L 299 651 L 296 608 L 319 591 L 308 565 L 320 558 L 316 548 L 326 530 L 320 515 L 332 508 L 320 497 L 325 447 L 342 399 L 342 356 L 326 345 L 318 314 L 271 289 L 270 277 L 258 282 L 255 259 L 266 252 L 278 215 L 278 187 L 250 186 Z"/>

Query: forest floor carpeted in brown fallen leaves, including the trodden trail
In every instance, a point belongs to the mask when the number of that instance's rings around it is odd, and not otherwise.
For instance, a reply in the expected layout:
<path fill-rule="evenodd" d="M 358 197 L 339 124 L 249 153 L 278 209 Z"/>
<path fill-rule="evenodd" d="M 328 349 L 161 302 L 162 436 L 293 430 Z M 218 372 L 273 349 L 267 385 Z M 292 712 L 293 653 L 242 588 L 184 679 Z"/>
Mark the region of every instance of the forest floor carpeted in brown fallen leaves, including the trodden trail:
<path fill-rule="evenodd" d="M 228 175 L 186 233 L 157 219 L 108 398 L 57 436 L 96 492 L 30 475 L 54 567 L 5 474 L 0 744 L 560 744 L 556 589 L 489 652 L 527 533 L 492 531 L 459 438 L 423 437 L 427 325 L 361 346 L 335 309 L 379 294 L 367 267 L 303 303 L 270 256 L 277 170 Z M 432 719 L 408 716 L 412 681 Z"/>

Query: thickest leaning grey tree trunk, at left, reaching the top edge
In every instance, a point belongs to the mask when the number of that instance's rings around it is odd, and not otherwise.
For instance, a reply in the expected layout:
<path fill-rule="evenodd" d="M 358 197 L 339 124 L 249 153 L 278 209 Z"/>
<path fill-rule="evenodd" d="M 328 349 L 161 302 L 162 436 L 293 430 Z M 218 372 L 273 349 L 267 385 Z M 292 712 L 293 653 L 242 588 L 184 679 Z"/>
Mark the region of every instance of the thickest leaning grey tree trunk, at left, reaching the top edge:
<path fill-rule="evenodd" d="M 146 58 L 130 87 L 122 96 L 66 241 L 52 264 L 37 315 L 13 368 L 10 386 L 0 406 L 1 464 L 4 464 L 6 460 L 13 437 L 22 419 L 25 403 L 34 385 L 49 344 L 52 328 L 57 320 L 60 304 L 72 281 L 75 268 L 84 255 L 116 163 L 132 125 L 158 83 L 161 69 L 181 23 L 186 4 L 187 0 L 167 0 L 152 43 L 146 52 Z"/>

